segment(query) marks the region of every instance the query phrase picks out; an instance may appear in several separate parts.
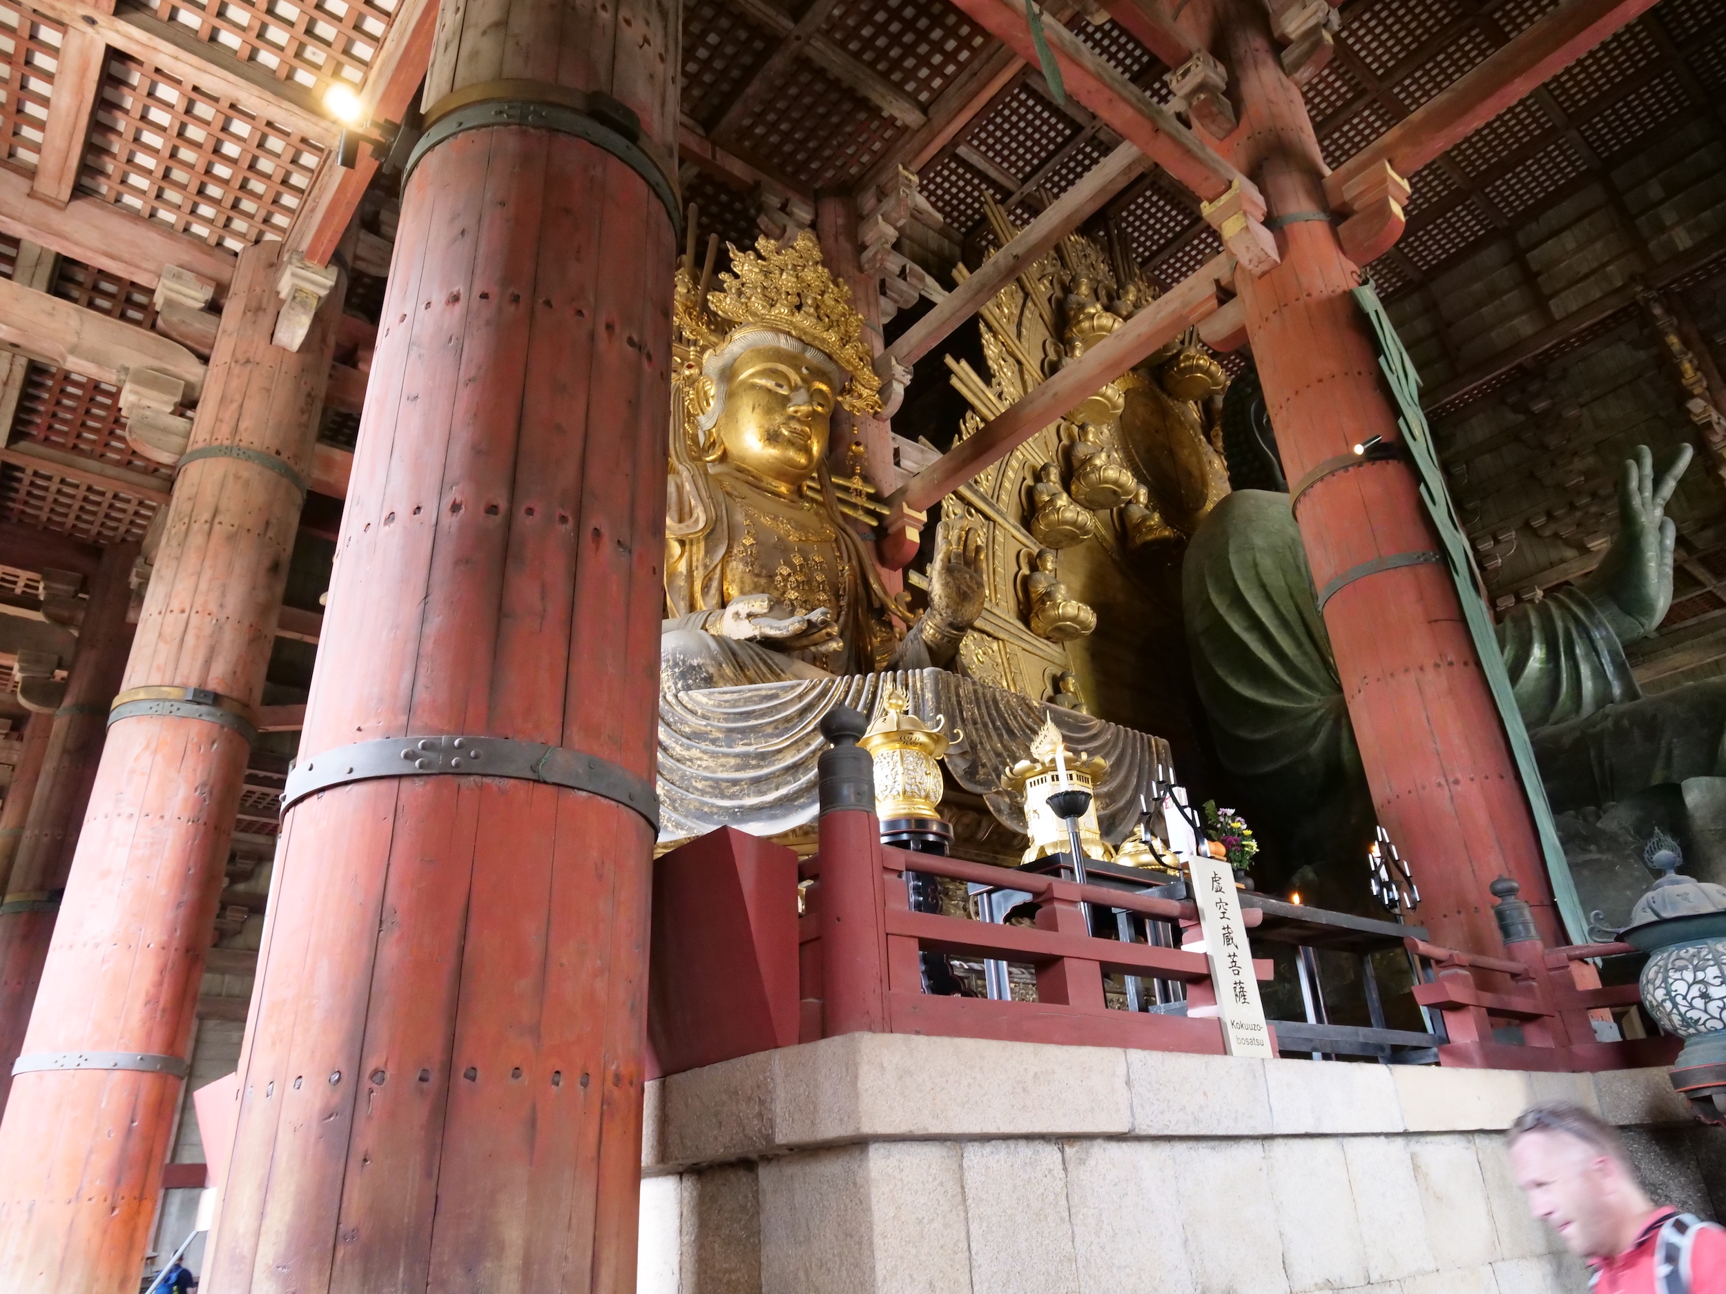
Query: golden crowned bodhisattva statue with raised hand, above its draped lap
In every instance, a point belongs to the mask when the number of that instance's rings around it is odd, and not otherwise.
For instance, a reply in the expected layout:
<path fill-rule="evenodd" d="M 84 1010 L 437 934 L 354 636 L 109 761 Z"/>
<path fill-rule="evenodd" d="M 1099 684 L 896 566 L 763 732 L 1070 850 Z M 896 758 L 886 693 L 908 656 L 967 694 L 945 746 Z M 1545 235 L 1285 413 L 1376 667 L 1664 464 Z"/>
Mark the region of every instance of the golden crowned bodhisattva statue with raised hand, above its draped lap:
<path fill-rule="evenodd" d="M 825 466 L 834 405 L 880 409 L 863 319 L 811 233 L 756 252 L 716 292 L 677 276 L 661 687 L 944 666 L 982 612 L 982 537 L 942 530 L 922 616 L 889 597 Z"/>

